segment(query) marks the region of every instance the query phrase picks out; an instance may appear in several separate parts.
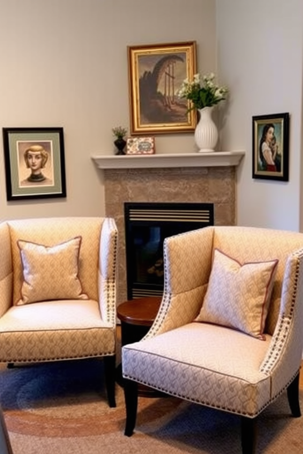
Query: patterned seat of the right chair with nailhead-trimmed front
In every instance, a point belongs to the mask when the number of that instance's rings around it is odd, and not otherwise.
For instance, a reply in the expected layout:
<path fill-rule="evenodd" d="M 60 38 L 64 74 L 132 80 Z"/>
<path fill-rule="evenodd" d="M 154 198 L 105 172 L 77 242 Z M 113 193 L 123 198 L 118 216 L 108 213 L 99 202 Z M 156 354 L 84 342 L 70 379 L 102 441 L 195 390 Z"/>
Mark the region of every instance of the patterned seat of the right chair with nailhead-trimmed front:
<path fill-rule="evenodd" d="M 224 326 L 190 323 L 122 348 L 125 378 L 214 408 L 255 416 L 268 403 L 259 371 L 265 341 Z M 139 379 L 139 380 L 138 380 Z"/>

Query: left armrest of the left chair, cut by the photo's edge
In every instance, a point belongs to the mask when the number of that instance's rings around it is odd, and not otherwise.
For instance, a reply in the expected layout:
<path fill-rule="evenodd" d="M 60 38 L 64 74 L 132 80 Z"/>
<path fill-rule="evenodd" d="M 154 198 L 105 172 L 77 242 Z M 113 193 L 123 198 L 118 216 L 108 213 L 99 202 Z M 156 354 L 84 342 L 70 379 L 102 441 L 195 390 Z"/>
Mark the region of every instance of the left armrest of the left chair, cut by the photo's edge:
<path fill-rule="evenodd" d="M 12 305 L 13 265 L 10 230 L 6 222 L 0 224 L 0 317 Z"/>

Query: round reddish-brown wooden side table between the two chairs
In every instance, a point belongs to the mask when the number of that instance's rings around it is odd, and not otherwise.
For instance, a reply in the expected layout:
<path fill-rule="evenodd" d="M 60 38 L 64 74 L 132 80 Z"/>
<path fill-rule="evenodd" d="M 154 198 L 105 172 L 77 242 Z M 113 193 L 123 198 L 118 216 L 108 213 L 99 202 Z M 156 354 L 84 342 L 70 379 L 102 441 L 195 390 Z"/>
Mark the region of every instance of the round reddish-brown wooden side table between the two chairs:
<path fill-rule="evenodd" d="M 117 307 L 117 317 L 121 321 L 121 344 L 138 342 L 148 333 L 159 311 L 161 296 L 146 296 L 125 301 Z M 117 367 L 117 382 L 123 386 L 122 365 Z M 159 395 L 148 386 L 138 385 L 138 394 L 145 397 Z"/>

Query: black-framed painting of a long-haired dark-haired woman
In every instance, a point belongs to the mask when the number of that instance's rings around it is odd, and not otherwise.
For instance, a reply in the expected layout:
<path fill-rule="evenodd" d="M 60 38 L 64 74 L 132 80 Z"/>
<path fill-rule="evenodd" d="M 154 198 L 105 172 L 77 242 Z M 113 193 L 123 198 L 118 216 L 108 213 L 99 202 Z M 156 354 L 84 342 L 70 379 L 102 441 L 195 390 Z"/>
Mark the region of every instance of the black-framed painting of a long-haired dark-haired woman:
<path fill-rule="evenodd" d="M 253 116 L 253 178 L 288 181 L 289 113 Z"/>

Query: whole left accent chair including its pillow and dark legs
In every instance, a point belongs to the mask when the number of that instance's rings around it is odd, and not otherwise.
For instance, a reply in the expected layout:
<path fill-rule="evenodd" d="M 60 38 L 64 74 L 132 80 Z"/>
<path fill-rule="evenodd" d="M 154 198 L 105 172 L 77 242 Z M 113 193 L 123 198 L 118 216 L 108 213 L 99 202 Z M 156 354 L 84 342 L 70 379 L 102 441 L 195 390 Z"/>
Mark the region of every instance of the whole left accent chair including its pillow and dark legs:
<path fill-rule="evenodd" d="M 2 222 L 0 362 L 103 357 L 114 407 L 116 253 L 112 218 Z"/>

